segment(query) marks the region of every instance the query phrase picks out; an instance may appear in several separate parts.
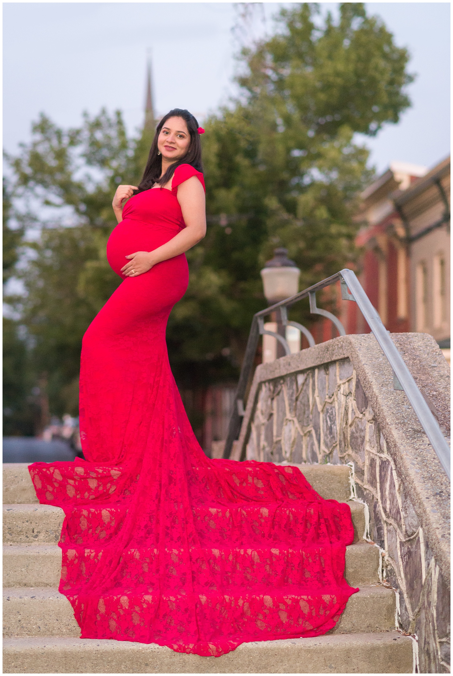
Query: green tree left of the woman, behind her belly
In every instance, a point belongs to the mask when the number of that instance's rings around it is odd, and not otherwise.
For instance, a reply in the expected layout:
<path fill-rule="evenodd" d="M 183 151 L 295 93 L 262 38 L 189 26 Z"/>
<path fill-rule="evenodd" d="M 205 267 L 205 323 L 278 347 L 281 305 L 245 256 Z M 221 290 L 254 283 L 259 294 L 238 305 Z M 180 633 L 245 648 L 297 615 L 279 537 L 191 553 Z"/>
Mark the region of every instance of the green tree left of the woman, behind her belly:
<path fill-rule="evenodd" d="M 34 370 L 47 374 L 54 414 L 76 414 L 82 336 L 120 283 L 105 242 L 116 224 L 112 194 L 130 173 L 134 149 L 120 113 L 101 110 L 67 131 L 41 115 L 30 145 L 7 157 L 16 197 L 38 205 L 41 233 L 22 241 L 29 260 L 16 274 L 26 295 L 16 309 L 32 341 Z"/>

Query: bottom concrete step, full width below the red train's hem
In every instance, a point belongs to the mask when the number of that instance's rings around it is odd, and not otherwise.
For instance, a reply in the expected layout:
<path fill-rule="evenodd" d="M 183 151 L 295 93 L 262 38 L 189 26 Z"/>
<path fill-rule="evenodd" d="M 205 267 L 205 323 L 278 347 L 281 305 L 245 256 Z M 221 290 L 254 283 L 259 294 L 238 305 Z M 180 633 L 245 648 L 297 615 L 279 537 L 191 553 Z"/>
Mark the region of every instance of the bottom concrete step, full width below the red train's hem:
<path fill-rule="evenodd" d="M 412 673 L 397 631 L 243 643 L 221 657 L 156 644 L 72 638 L 3 641 L 3 673 Z"/>

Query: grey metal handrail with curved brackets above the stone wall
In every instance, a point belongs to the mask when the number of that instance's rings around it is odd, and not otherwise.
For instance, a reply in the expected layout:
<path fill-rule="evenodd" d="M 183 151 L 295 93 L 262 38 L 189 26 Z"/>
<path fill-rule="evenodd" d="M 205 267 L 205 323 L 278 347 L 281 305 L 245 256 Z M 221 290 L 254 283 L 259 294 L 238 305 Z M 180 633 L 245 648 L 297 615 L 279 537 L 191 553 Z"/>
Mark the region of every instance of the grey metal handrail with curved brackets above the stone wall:
<path fill-rule="evenodd" d="M 295 295 L 286 298 L 285 300 L 279 301 L 279 303 L 275 303 L 269 308 L 254 314 L 252 327 L 250 328 L 249 339 L 247 341 L 247 347 L 245 348 L 245 356 L 241 368 L 241 375 L 239 376 L 239 383 L 237 385 L 235 395 L 235 406 L 233 408 L 233 414 L 229 424 L 223 457 L 229 458 L 231 449 L 233 448 L 233 441 L 239 436 L 242 422 L 241 418 L 243 417 L 244 412 L 243 399 L 245 396 L 245 390 L 247 389 L 247 383 L 252 372 L 260 334 L 266 333 L 274 335 L 280 340 L 282 344 L 286 343 L 285 339 L 277 333 L 272 333 L 270 331 L 264 332 L 264 317 L 271 312 L 279 310 L 279 308 L 285 308 L 282 313 L 283 324 L 294 326 L 295 322 L 287 321 L 286 308 L 293 306 L 295 303 L 297 303 L 297 301 L 300 301 L 303 298 L 310 297 L 310 310 L 312 310 L 312 312 L 316 312 L 316 314 L 323 314 L 323 316 L 327 316 L 329 319 L 331 319 L 331 321 L 334 322 L 340 335 L 345 335 L 345 333 L 342 333 L 341 331 L 342 329 L 344 332 L 343 325 L 341 322 L 339 322 L 339 319 L 335 317 L 335 315 L 327 312 L 326 310 L 319 310 L 316 308 L 316 291 L 325 289 L 325 287 L 335 284 L 338 281 L 341 284 L 341 297 L 343 300 L 355 301 L 358 308 L 360 309 L 360 312 L 362 312 L 364 319 L 371 329 L 371 333 L 373 333 L 375 336 L 375 339 L 379 343 L 379 346 L 381 347 L 385 357 L 393 369 L 394 381 L 395 379 L 398 381 L 396 383 L 396 387 L 400 385 L 400 388 L 406 393 L 406 397 L 408 397 L 410 405 L 414 409 L 417 418 L 419 418 L 421 426 L 423 427 L 425 434 L 427 435 L 435 451 L 435 454 L 437 455 L 437 458 L 439 458 L 440 464 L 442 464 L 448 479 L 450 479 L 450 446 L 448 445 L 444 435 L 442 434 L 442 431 L 440 430 L 439 423 L 437 423 L 437 420 L 429 409 L 427 402 L 425 402 L 423 394 L 419 390 L 419 387 L 417 387 L 412 375 L 410 374 L 410 370 L 398 352 L 398 349 L 394 341 L 391 339 L 389 332 L 387 329 L 385 329 L 377 310 L 371 304 L 370 299 L 368 299 L 368 296 L 362 289 L 362 285 L 358 281 L 354 272 L 352 270 L 348 270 L 348 268 L 340 270 L 337 272 L 337 274 L 333 274 L 331 277 L 324 279 L 322 282 L 318 282 L 312 287 L 309 287 L 304 291 L 300 291 L 300 293 L 296 293 Z M 285 352 L 289 354 L 289 347 L 288 349 L 285 347 Z"/>

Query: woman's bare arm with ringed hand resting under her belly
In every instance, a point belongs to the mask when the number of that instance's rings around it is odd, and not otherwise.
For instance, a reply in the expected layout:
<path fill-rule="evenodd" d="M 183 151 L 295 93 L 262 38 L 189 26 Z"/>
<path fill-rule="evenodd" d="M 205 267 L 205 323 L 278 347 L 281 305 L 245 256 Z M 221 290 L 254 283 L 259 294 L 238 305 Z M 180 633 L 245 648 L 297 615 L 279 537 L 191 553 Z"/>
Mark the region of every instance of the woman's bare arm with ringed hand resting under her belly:
<path fill-rule="evenodd" d="M 129 262 L 121 268 L 126 277 L 136 277 L 150 270 L 153 265 L 183 254 L 206 235 L 206 199 L 204 189 L 196 176 L 191 176 L 178 186 L 178 202 L 181 205 L 186 227 L 170 241 L 154 251 L 135 251 L 129 254 Z M 135 270 L 135 272 L 132 272 Z"/>

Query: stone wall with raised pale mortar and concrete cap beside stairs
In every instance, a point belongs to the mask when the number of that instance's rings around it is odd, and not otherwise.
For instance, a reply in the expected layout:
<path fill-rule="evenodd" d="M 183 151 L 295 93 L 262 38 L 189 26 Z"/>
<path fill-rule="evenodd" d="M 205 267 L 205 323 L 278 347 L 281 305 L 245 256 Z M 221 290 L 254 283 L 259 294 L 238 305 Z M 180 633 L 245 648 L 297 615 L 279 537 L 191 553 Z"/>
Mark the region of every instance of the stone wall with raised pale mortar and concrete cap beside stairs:
<path fill-rule="evenodd" d="M 444 399 L 449 370 L 437 344 L 419 334 L 398 341 L 403 356 L 418 351 L 438 370 Z M 423 384 L 437 410 L 432 383 Z M 441 422 L 449 425 L 445 407 Z M 334 339 L 258 367 L 237 448 L 238 459 L 242 449 L 254 460 L 352 466 L 398 623 L 419 641 L 419 669 L 448 673 L 450 484 L 374 337 Z"/>

